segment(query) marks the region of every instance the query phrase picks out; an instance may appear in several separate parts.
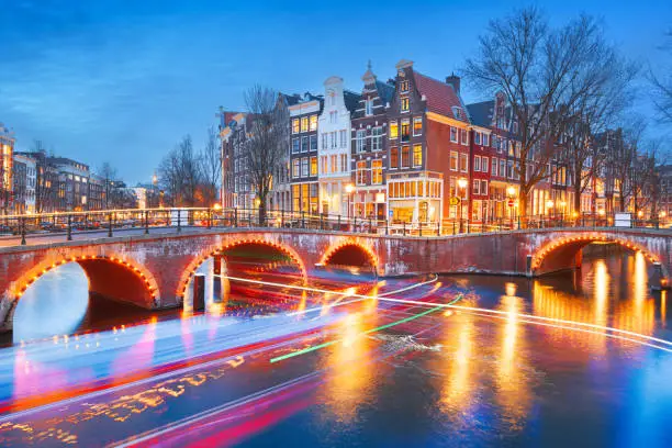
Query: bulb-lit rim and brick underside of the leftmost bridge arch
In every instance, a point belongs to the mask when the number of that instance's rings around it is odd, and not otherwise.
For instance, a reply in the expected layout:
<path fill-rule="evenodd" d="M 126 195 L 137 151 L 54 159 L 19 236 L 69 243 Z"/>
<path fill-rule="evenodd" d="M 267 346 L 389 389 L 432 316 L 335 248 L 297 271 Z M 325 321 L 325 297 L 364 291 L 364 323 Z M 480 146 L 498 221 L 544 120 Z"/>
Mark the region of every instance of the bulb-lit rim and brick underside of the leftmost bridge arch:
<path fill-rule="evenodd" d="M 43 259 L 10 283 L 2 300 L 2 307 L 7 310 L 2 327 L 13 327 L 16 304 L 35 281 L 51 270 L 70 262 L 78 264 L 85 271 L 89 292 L 148 310 L 158 305 L 159 288 L 156 279 L 152 272 L 128 257 L 116 254 L 59 255 Z"/>

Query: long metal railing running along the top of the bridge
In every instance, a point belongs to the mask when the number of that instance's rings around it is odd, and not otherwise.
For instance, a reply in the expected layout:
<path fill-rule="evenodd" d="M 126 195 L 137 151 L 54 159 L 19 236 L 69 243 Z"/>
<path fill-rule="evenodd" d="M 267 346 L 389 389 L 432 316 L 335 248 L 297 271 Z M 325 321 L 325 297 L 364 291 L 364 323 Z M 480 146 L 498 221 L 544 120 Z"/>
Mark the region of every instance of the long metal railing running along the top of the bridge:
<path fill-rule="evenodd" d="M 104 210 L 89 212 L 43 213 L 0 216 L 0 237 L 20 238 L 26 244 L 29 237 L 104 233 L 113 236 L 119 232 L 134 231 L 149 233 L 154 228 L 171 228 L 181 232 L 192 227 L 275 227 L 339 231 L 358 234 L 444 236 L 472 233 L 497 233 L 522 228 L 567 228 L 567 227 L 641 227 L 669 228 L 665 219 L 631 219 L 618 221 L 613 214 L 546 214 L 506 216 L 481 221 L 448 219 L 443 222 L 403 221 L 380 217 L 343 216 L 315 214 L 296 211 L 271 210 L 262 219 L 258 210 L 249 209 L 145 209 Z"/>

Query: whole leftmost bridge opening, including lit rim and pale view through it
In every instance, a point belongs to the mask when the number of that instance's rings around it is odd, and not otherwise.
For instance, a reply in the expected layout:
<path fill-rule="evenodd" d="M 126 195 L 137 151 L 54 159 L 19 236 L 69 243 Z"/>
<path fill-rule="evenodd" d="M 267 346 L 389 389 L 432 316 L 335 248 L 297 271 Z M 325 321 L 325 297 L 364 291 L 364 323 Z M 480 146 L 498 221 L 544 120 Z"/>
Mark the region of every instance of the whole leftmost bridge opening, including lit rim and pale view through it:
<path fill-rule="evenodd" d="M 142 321 L 152 315 L 157 284 L 117 257 L 77 256 L 42 262 L 8 292 L 14 305 L 4 341 L 40 339 Z"/>

